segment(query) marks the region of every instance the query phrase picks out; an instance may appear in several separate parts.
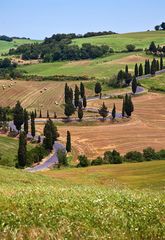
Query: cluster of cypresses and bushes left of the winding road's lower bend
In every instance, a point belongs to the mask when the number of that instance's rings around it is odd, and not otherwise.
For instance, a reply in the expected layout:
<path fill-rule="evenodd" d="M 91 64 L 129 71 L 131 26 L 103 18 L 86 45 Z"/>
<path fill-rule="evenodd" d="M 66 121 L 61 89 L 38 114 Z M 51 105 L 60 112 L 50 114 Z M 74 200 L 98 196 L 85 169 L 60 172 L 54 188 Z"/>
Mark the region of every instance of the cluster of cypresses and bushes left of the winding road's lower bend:
<path fill-rule="evenodd" d="M 43 156 L 48 155 L 49 152 L 53 150 L 54 142 L 57 140 L 59 134 L 57 127 L 49 118 L 45 124 L 43 131 L 43 142 L 41 142 L 41 137 L 38 136 L 37 143 L 39 144 L 33 148 L 30 153 L 27 152 L 27 138 L 29 138 L 29 132 L 31 136 L 36 136 L 35 128 L 35 117 L 36 112 L 32 111 L 28 113 L 26 109 L 23 109 L 20 102 L 16 103 L 13 110 L 13 122 L 19 132 L 19 148 L 17 157 L 17 167 L 25 167 L 31 165 L 33 162 L 39 162 L 42 160 Z M 29 119 L 30 119 L 30 131 L 29 131 Z M 29 156 L 29 157 L 28 157 Z M 33 156 L 33 158 L 32 158 Z"/>

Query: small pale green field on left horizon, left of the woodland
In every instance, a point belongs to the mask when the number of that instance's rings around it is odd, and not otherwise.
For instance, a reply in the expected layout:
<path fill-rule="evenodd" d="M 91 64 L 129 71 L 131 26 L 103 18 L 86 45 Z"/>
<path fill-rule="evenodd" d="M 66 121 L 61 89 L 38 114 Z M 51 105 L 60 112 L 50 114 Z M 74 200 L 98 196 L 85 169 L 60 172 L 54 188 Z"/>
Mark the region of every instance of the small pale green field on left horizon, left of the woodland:
<path fill-rule="evenodd" d="M 12 42 L 1 41 L 0 40 L 0 55 L 2 53 L 8 53 L 11 48 L 17 48 L 18 46 L 26 43 L 35 43 L 41 42 L 38 40 L 29 40 L 29 39 L 14 39 Z"/>

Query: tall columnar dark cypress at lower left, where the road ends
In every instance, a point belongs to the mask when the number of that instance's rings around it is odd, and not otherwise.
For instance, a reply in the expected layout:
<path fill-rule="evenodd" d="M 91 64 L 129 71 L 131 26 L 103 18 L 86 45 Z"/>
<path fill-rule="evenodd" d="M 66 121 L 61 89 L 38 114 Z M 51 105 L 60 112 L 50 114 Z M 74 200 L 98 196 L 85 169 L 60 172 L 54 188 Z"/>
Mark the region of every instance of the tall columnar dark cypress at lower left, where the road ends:
<path fill-rule="evenodd" d="M 18 167 L 23 168 L 26 166 L 26 134 L 21 132 L 19 135 L 18 147 Z"/>

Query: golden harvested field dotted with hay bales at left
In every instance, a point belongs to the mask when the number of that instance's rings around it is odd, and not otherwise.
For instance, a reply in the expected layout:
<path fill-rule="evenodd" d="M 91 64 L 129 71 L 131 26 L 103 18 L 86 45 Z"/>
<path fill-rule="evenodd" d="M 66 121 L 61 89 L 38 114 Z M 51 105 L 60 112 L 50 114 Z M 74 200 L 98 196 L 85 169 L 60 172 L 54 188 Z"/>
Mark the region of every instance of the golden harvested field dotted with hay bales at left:
<path fill-rule="evenodd" d="M 70 86 L 79 82 L 70 82 Z M 0 81 L 0 105 L 13 107 L 19 100 L 29 111 L 40 109 L 43 116 L 49 110 L 50 114 L 56 112 L 63 114 L 65 82 L 53 81 Z"/>

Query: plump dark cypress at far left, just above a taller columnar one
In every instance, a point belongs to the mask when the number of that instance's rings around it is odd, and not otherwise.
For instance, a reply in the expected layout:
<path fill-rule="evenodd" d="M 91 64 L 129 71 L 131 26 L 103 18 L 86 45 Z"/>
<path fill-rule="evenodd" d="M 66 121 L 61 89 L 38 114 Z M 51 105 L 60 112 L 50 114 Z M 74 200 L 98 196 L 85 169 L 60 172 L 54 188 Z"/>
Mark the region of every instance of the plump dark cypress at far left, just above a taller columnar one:
<path fill-rule="evenodd" d="M 20 102 L 18 101 L 15 105 L 14 108 L 14 114 L 13 114 L 13 118 L 14 118 L 14 125 L 16 126 L 16 129 L 18 131 L 21 130 L 21 126 L 24 123 L 24 116 L 23 116 L 23 108 L 20 104 Z"/>

